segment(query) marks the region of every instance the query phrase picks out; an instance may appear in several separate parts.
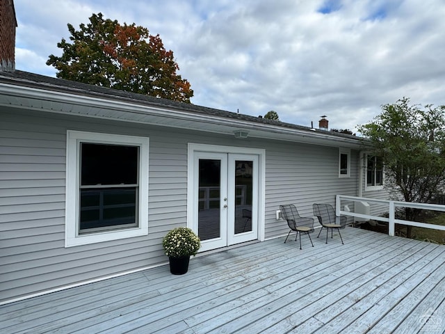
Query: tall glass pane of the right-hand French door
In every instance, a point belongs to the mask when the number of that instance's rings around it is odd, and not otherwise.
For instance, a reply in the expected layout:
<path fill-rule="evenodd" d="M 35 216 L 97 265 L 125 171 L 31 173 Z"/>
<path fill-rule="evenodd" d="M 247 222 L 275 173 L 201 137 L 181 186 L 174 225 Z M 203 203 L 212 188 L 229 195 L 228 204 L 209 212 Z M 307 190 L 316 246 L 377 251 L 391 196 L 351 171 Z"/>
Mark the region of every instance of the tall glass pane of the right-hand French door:
<path fill-rule="evenodd" d="M 235 161 L 235 234 L 252 231 L 253 161 Z"/>

